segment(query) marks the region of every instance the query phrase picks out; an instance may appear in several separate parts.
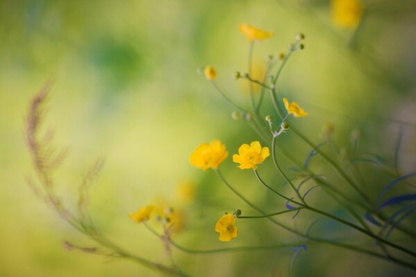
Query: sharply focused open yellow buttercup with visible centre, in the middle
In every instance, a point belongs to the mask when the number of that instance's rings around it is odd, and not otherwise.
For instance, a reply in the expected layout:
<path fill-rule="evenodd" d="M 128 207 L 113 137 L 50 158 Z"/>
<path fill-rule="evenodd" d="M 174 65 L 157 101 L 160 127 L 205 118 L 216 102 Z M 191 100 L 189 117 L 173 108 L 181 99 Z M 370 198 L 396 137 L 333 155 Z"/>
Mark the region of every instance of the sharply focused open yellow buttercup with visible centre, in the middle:
<path fill-rule="evenodd" d="M 248 144 L 243 144 L 239 148 L 239 154 L 232 156 L 234 163 L 240 163 L 241 169 L 257 169 L 257 164 L 263 163 L 263 161 L 270 156 L 270 152 L 267 147 L 261 148 L 259 141 L 253 141 Z"/>

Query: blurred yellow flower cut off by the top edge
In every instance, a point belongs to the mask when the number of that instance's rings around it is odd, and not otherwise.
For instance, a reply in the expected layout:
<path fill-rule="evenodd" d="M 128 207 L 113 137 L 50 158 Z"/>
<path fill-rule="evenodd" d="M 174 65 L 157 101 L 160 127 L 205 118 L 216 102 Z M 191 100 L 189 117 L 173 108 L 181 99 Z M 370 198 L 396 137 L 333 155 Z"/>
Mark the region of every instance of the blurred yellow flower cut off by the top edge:
<path fill-rule="evenodd" d="M 331 0 L 331 14 L 336 26 L 356 28 L 363 15 L 363 4 L 360 0 Z"/>

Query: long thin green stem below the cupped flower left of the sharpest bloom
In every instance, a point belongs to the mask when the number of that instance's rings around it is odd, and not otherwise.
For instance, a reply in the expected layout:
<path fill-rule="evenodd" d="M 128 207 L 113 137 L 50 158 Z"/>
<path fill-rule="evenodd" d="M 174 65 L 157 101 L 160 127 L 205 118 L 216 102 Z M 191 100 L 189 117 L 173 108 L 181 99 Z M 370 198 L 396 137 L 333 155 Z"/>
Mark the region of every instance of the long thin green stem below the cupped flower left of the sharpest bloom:
<path fill-rule="evenodd" d="M 223 183 L 225 184 L 225 186 L 227 186 L 230 190 L 232 190 L 232 192 L 237 195 L 240 199 L 243 200 L 243 202 L 245 202 L 246 204 L 248 204 L 248 206 L 254 208 L 254 210 L 258 211 L 259 213 L 261 213 L 262 215 L 267 215 L 266 212 L 264 212 L 263 210 L 261 210 L 261 208 L 258 208 L 257 206 L 255 206 L 254 204 L 252 204 L 252 202 L 250 202 L 248 199 L 246 199 L 243 195 L 241 195 L 241 193 L 239 193 L 238 190 L 236 190 L 234 187 L 232 187 L 227 180 L 223 177 L 223 175 L 220 174 L 219 170 L 215 170 L 216 175 L 221 179 L 221 181 L 223 181 Z M 313 242 L 320 242 L 322 244 L 331 244 L 333 246 L 336 247 L 340 247 L 340 248 L 344 248 L 344 249 L 349 249 L 352 251 L 356 251 L 359 253 L 365 253 L 367 255 L 370 256 L 374 256 L 376 258 L 380 258 L 383 260 L 388 260 L 389 262 L 393 262 L 397 265 L 401 265 L 404 267 L 408 267 L 410 269 L 413 269 L 416 271 L 416 265 L 408 263 L 408 262 L 404 262 L 402 260 L 398 260 L 397 258 L 393 258 L 391 256 L 383 256 L 379 253 L 376 253 L 374 251 L 370 251 L 368 249 L 363 249 L 361 247 L 356 247 L 355 245 L 351 245 L 351 244 L 345 244 L 345 243 L 341 243 L 341 242 L 335 242 L 333 240 L 327 240 L 327 239 L 323 239 L 323 238 L 318 238 L 312 235 L 308 235 L 308 234 L 304 234 L 300 231 L 297 231 L 296 229 L 293 229 L 289 226 L 286 226 L 286 224 L 283 224 L 277 220 L 275 220 L 272 217 L 266 217 L 267 220 L 269 220 L 270 222 L 272 222 L 273 224 L 276 224 L 277 226 L 280 226 L 282 229 L 285 229 L 286 231 L 289 231 L 291 233 L 294 233 L 295 235 L 300 235 L 302 238 L 306 238 L 308 240 L 311 240 Z"/>

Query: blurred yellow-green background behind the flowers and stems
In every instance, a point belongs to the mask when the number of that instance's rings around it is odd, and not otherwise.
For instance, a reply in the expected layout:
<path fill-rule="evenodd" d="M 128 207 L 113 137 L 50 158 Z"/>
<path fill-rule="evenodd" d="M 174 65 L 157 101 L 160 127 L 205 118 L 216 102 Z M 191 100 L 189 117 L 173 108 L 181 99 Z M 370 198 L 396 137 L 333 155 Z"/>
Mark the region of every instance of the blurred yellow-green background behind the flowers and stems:
<path fill-rule="evenodd" d="M 242 143 L 259 140 L 243 121 L 232 119 L 233 108 L 196 73 L 198 66 L 216 66 L 218 84 L 248 107 L 247 84 L 232 78 L 234 71 L 247 71 L 248 42 L 239 33 L 241 22 L 275 33 L 255 46 L 258 72 L 268 54 L 286 51 L 296 33 L 306 35 L 304 51 L 291 57 L 277 89 L 309 112 L 295 123 L 312 141 L 320 141 L 322 126 L 331 121 L 337 145 L 347 149 L 351 133 L 358 129 L 361 152 L 379 154 L 391 165 L 402 126 L 399 171 L 414 171 L 416 3 L 364 3 L 370 11 L 355 31 L 334 26 L 330 3 L 321 0 L 0 0 L 0 276 L 160 276 L 133 262 L 64 249 L 64 240 L 94 244 L 60 220 L 26 184 L 25 176 L 32 174 L 23 135 L 26 109 L 50 79 L 53 87 L 44 125 L 55 130 L 55 145 L 69 150 L 56 173 L 58 193 L 73 207 L 87 168 L 97 157 L 105 157 L 105 167 L 90 190 L 90 211 L 108 238 L 139 255 L 168 262 L 162 243 L 127 216 L 164 198 L 187 211 L 187 228 L 177 240 L 189 248 L 299 239 L 268 222 L 242 220 L 238 239 L 218 241 L 214 224 L 224 211 L 252 211 L 214 172 L 189 165 L 189 154 L 202 142 L 221 139 L 233 154 Z M 268 95 L 265 100 L 262 113 L 273 114 Z M 281 145 L 300 162 L 310 151 L 290 132 Z M 341 182 L 327 163 L 314 159 L 315 170 Z M 291 166 L 281 162 L 285 168 Z M 245 195 L 270 211 L 284 208 L 284 202 L 263 190 L 249 170 L 238 170 L 230 158 L 222 167 Z M 261 170 L 267 181 L 283 184 L 271 161 Z M 374 166 L 361 170 L 370 195 L 392 179 Z M 184 202 L 177 193 L 181 184 L 194 186 L 192 201 Z M 348 188 L 345 193 L 354 197 Z M 311 199 L 343 216 L 323 192 L 311 194 Z M 310 224 L 311 217 L 301 213 L 296 219 L 299 228 Z M 284 220 L 295 224 L 290 217 Z M 318 233 L 365 241 L 327 221 Z M 193 276 L 288 276 L 293 249 L 173 255 Z M 293 273 L 415 275 L 374 258 L 319 245 L 300 253 Z"/>

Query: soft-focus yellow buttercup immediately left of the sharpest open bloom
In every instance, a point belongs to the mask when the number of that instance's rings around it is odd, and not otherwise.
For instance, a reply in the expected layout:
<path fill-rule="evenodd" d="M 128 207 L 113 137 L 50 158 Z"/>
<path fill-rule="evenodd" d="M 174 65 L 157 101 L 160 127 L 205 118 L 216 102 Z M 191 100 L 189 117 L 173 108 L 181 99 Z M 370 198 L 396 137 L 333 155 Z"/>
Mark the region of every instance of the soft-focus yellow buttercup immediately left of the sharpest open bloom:
<path fill-rule="evenodd" d="M 220 163 L 227 158 L 228 152 L 225 145 L 218 139 L 210 143 L 202 143 L 193 150 L 189 157 L 189 162 L 192 166 L 207 170 L 208 168 L 217 169 Z"/>

